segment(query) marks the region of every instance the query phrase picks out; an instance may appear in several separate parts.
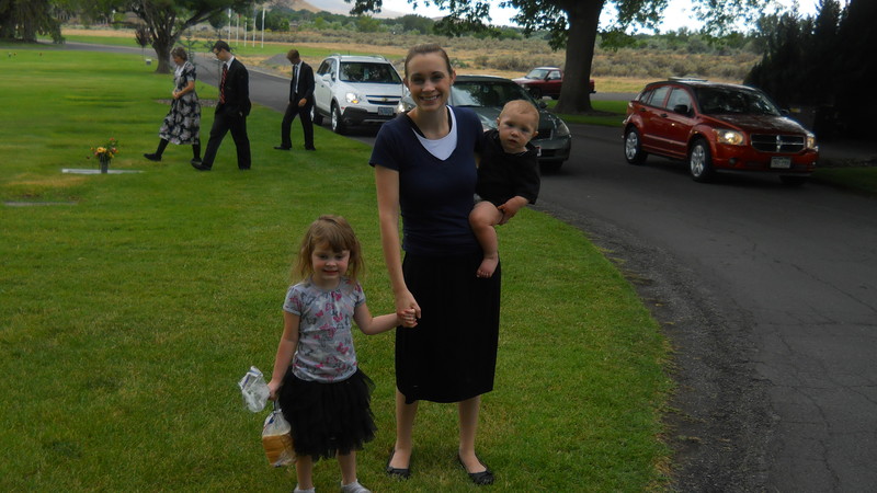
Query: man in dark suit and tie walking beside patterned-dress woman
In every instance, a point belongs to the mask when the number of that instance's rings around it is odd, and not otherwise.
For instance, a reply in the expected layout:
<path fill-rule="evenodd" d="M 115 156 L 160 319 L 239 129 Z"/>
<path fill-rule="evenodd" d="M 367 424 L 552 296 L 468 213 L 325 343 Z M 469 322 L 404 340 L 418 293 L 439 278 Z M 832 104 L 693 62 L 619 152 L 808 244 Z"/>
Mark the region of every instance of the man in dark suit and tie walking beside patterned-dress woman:
<path fill-rule="evenodd" d="M 210 128 L 210 140 L 204 151 L 204 160 L 192 160 L 198 171 L 209 171 L 216 159 L 216 151 L 230 130 L 238 151 L 238 169 L 250 169 L 250 138 L 247 137 L 247 115 L 250 114 L 250 76 L 247 68 L 231 55 L 228 43 L 218 41 L 213 53 L 221 61 L 219 78 L 219 104 Z"/>

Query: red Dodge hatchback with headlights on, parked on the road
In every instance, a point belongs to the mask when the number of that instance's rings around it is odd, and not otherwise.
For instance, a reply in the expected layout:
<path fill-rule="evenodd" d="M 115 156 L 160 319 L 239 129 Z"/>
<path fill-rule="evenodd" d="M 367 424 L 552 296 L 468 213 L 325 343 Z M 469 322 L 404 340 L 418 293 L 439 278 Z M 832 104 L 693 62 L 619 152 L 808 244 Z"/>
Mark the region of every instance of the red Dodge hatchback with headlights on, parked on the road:
<path fill-rule="evenodd" d="M 627 104 L 624 156 L 685 160 L 695 181 L 717 171 L 773 173 L 799 185 L 816 169 L 816 137 L 763 92 L 744 85 L 671 79 Z"/>

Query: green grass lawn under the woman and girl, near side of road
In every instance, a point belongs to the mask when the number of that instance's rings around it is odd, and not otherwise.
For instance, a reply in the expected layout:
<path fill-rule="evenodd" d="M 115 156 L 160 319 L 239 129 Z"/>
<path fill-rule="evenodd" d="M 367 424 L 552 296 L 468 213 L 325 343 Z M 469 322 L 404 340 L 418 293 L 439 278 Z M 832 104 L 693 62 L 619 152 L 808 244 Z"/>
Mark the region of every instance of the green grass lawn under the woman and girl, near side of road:
<path fill-rule="evenodd" d="M 237 381 L 250 365 L 272 369 L 293 252 L 320 214 L 351 221 L 372 311 L 392 310 L 369 148 L 318 128 L 318 152 L 274 151 L 281 115 L 257 106 L 252 171 L 238 171 L 228 136 L 200 173 L 189 147 L 141 157 L 172 81 L 139 54 L 18 46 L 0 71 L 0 490 L 291 490 L 294 471 L 269 468 L 261 448 L 266 412 L 246 410 Z M 205 108 L 205 144 L 212 122 Z M 143 173 L 61 173 L 95 169 L 90 147 L 110 137 L 122 150 L 111 168 Z M 672 381 L 658 324 L 581 231 L 525 209 L 500 232 L 499 364 L 478 444 L 493 489 L 663 489 Z M 412 479 L 384 475 L 394 339 L 356 344 L 379 427 L 360 480 L 474 491 L 455 463 L 452 405 L 421 406 Z M 319 490 L 339 479 L 334 461 L 317 466 Z"/>

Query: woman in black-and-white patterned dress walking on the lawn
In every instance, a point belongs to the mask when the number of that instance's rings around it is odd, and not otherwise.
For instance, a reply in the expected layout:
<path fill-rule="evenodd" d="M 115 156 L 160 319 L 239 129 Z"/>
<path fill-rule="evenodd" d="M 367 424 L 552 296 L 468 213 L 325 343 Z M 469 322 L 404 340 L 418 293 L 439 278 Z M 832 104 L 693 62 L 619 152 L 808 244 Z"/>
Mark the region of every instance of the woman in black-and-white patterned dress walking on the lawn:
<path fill-rule="evenodd" d="M 173 48 L 171 51 L 173 62 L 176 64 L 176 71 L 173 74 L 173 102 L 171 110 L 164 117 L 158 136 L 158 149 L 152 153 L 144 154 L 150 161 L 161 161 L 161 154 L 168 142 L 180 146 L 192 146 L 192 162 L 201 162 L 201 103 L 195 92 L 195 66 L 189 61 L 189 55 L 182 46 Z"/>

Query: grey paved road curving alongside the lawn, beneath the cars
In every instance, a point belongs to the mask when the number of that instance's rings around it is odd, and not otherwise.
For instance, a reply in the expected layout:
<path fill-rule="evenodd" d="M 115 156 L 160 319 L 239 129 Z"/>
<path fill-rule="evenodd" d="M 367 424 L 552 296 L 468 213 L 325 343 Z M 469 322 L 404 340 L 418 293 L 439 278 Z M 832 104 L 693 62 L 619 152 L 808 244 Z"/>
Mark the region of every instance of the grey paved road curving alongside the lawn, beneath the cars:
<path fill-rule="evenodd" d="M 275 110 L 286 84 L 251 72 L 252 99 Z M 573 136 L 539 207 L 619 259 L 671 337 L 676 486 L 876 491 L 875 202 L 774 179 L 698 184 L 660 158 L 626 164 L 617 129 Z"/>

